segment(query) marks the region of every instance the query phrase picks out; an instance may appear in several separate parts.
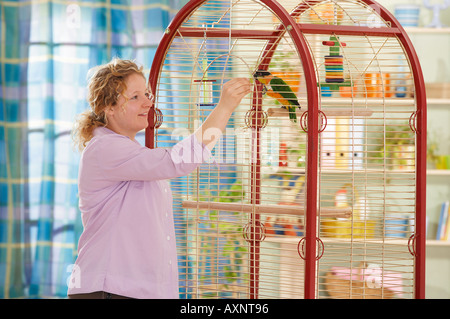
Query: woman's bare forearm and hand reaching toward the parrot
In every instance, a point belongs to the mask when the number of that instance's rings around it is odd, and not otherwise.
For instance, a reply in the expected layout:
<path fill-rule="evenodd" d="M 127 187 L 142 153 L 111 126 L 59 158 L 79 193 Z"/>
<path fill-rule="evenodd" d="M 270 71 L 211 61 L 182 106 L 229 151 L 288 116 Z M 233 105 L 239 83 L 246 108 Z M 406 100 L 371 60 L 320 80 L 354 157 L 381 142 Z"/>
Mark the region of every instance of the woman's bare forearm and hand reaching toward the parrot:
<path fill-rule="evenodd" d="M 250 92 L 251 84 L 248 79 L 236 78 L 225 83 L 219 103 L 194 133 L 197 140 L 212 150 L 224 132 L 231 114 Z"/>

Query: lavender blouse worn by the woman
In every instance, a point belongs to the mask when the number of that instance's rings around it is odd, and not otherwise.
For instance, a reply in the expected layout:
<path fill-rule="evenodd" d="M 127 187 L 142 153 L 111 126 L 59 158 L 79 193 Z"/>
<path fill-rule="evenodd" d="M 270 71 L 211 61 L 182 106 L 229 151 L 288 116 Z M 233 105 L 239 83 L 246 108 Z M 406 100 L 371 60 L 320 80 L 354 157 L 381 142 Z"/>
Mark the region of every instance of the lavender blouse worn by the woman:
<path fill-rule="evenodd" d="M 81 156 L 83 233 L 68 294 L 178 298 L 172 194 L 166 179 L 211 156 L 195 135 L 149 149 L 100 127 Z"/>

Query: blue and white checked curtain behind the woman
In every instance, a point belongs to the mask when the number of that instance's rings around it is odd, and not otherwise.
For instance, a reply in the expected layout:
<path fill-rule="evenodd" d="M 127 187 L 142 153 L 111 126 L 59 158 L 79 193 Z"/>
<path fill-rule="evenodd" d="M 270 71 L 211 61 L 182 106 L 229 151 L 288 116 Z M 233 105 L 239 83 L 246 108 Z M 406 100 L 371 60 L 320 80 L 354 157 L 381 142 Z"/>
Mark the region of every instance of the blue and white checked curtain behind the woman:
<path fill-rule="evenodd" d="M 82 231 L 70 132 L 87 72 L 113 57 L 148 72 L 185 3 L 0 1 L 0 298 L 66 296 Z"/>

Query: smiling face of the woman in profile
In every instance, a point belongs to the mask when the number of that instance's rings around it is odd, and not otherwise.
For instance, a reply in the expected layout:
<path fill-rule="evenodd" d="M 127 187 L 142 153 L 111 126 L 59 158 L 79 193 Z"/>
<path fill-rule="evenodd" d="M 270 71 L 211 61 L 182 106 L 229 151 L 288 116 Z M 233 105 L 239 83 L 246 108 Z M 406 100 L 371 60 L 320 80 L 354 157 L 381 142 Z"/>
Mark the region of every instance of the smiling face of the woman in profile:
<path fill-rule="evenodd" d="M 147 89 L 145 78 L 131 74 L 125 79 L 124 96 L 120 95 L 117 105 L 108 108 L 108 127 L 118 134 L 134 139 L 136 133 L 147 128 L 148 112 L 153 105 L 153 95 Z"/>

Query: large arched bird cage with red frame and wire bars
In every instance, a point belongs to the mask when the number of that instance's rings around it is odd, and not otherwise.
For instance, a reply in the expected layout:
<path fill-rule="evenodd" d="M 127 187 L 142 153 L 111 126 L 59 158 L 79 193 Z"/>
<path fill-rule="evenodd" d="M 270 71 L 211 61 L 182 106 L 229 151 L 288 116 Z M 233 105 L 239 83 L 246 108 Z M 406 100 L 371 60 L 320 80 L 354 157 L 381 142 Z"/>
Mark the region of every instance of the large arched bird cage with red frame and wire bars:
<path fill-rule="evenodd" d="M 171 180 L 180 297 L 423 298 L 426 99 L 393 15 L 191 0 L 155 53 L 146 146 L 192 134 L 236 77 L 253 91 L 213 160 Z"/>

